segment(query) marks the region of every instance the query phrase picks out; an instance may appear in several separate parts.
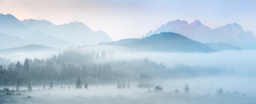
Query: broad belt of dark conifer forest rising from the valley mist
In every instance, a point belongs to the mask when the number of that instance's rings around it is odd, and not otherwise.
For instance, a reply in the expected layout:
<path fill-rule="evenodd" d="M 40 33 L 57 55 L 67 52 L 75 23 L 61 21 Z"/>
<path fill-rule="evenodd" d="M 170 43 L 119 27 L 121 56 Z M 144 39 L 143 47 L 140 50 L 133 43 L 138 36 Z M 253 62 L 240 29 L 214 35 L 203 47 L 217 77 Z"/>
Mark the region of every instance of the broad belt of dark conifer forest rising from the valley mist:
<path fill-rule="evenodd" d="M 14 86 L 17 79 L 20 80 L 21 85 L 28 83 L 40 85 L 50 82 L 64 85 L 76 82 L 77 77 L 80 76 L 81 81 L 90 84 L 113 84 L 118 80 L 137 81 L 141 73 L 153 75 L 151 79 L 229 73 L 226 69 L 190 67 L 183 64 L 167 68 L 162 62 L 158 64 L 149 60 L 148 57 L 140 60 L 100 63 L 96 60 L 111 58 L 111 56 L 106 56 L 105 51 L 99 55 L 93 49 L 86 51 L 82 49 L 81 47 L 70 48 L 57 56 L 54 54 L 45 59 L 26 58 L 23 62 L 0 64 L 0 85 Z"/>

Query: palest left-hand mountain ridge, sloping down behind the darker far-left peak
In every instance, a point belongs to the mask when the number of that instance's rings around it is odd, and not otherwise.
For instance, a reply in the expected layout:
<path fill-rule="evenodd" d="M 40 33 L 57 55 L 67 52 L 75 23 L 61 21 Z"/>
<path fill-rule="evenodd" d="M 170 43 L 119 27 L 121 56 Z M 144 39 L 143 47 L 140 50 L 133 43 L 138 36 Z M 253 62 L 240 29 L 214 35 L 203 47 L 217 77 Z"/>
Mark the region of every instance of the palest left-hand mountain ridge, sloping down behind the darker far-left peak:
<path fill-rule="evenodd" d="M 113 42 L 104 31 L 92 31 L 88 26 L 78 21 L 54 25 L 46 20 L 28 19 L 21 21 L 21 23 L 33 31 L 38 30 L 76 45 L 94 45 L 100 42 Z"/>

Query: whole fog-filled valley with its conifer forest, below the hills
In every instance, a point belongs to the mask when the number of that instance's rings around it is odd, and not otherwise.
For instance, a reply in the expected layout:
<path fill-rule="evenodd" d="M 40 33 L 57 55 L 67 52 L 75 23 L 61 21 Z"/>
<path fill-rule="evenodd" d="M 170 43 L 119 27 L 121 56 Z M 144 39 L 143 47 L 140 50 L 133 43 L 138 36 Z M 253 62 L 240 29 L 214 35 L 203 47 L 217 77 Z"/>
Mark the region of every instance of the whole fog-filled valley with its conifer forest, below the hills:
<path fill-rule="evenodd" d="M 254 103 L 254 53 L 142 52 L 105 45 L 41 54 L 43 59 L 17 53 L 0 63 L 1 103 Z"/>

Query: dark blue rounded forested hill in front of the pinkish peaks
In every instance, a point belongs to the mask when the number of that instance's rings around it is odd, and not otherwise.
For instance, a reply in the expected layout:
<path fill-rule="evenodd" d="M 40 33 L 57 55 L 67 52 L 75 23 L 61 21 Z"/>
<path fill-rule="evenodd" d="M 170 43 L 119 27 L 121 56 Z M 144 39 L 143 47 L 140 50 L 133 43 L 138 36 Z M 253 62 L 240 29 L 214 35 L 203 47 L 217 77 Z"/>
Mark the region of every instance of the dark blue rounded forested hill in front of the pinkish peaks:
<path fill-rule="evenodd" d="M 140 51 L 161 51 L 161 52 L 203 52 L 215 51 L 208 45 L 191 40 L 190 38 L 173 32 L 161 32 L 142 38 L 141 40 L 125 43 L 123 46 L 134 48 Z"/>

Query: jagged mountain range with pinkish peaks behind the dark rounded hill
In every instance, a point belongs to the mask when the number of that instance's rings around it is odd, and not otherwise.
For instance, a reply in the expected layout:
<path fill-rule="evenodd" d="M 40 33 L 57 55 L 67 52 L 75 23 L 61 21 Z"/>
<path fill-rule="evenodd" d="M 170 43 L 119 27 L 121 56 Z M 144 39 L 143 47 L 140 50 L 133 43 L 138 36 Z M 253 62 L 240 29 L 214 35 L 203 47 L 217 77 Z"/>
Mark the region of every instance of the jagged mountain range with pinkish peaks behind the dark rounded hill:
<path fill-rule="evenodd" d="M 161 25 L 157 30 L 150 31 L 141 38 L 158 34 L 161 32 L 175 32 L 197 40 L 202 43 L 218 43 L 224 42 L 234 46 L 246 47 L 248 45 L 256 46 L 256 37 L 251 31 L 243 31 L 241 25 L 237 23 L 220 26 L 216 29 L 202 24 L 199 20 L 188 23 L 185 20 L 175 20 Z"/>

